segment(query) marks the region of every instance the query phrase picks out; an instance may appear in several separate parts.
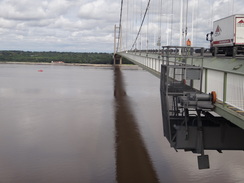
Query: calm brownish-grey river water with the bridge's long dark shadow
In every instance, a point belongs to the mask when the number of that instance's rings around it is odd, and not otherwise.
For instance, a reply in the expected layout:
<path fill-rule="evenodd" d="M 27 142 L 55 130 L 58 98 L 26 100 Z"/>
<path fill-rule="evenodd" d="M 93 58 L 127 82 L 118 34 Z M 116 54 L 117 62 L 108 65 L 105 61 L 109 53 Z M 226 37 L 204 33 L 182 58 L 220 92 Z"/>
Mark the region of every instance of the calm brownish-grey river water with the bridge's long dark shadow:
<path fill-rule="evenodd" d="M 40 72 L 43 71 L 43 72 Z M 244 153 L 175 152 L 143 70 L 0 65 L 0 182 L 244 182 Z"/>

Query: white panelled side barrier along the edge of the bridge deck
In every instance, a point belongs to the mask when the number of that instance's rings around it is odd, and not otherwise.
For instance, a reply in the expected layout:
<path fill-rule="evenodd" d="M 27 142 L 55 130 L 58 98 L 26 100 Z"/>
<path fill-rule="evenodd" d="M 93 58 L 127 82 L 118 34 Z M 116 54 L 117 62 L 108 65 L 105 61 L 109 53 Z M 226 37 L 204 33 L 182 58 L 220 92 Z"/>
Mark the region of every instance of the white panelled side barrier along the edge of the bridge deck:
<path fill-rule="evenodd" d="M 158 73 L 161 72 L 161 64 L 166 64 L 161 51 L 152 52 L 134 51 L 120 53 L 123 57 L 139 63 Z M 192 58 L 192 57 L 191 57 Z M 191 60 L 193 64 L 202 64 L 201 61 Z M 188 58 L 189 59 L 189 58 Z M 175 62 L 172 59 L 172 63 Z M 224 104 L 229 104 L 240 110 L 244 110 L 244 73 L 235 72 L 234 70 L 221 70 L 209 67 L 204 64 L 208 58 L 203 59 L 202 90 L 204 93 L 217 93 L 218 100 Z M 229 59 L 231 61 L 231 59 Z M 195 63 L 196 61 L 196 63 Z M 198 65 L 198 66 L 199 66 Z M 195 82 L 193 87 L 199 89 L 199 83 Z"/>

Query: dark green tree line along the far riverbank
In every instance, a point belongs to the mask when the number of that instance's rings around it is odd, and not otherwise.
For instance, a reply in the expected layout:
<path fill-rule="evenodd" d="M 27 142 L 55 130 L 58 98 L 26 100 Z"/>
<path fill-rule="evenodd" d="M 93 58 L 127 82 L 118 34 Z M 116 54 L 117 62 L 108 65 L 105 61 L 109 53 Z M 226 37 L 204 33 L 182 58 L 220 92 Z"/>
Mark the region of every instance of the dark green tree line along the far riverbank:
<path fill-rule="evenodd" d="M 84 64 L 112 64 L 111 53 L 78 53 L 78 52 L 31 52 L 31 51 L 0 51 L 0 62 L 56 62 Z M 123 60 L 125 64 L 131 64 Z"/>

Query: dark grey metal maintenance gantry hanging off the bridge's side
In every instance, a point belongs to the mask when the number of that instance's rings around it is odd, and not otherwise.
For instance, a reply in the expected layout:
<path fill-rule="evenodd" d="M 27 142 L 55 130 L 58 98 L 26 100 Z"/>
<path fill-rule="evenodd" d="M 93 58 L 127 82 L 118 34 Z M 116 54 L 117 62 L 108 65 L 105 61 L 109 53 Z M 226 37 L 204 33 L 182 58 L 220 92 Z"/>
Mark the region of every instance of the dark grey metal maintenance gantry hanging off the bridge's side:
<path fill-rule="evenodd" d="M 200 54 L 193 54 L 195 49 L 163 47 L 160 91 L 164 136 L 176 150 L 200 154 L 198 167 L 205 169 L 210 166 L 204 150 L 244 150 L 244 133 L 212 112 L 216 93 L 202 93 L 203 67 L 187 64 L 187 59 L 203 60 L 203 48 Z"/>

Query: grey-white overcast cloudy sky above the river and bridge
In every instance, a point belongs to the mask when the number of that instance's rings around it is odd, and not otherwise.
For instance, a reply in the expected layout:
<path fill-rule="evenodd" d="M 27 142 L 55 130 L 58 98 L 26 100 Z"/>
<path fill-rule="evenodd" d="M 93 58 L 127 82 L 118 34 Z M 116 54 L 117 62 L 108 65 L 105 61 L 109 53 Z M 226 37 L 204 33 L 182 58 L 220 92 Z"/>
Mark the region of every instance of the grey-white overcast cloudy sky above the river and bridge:
<path fill-rule="evenodd" d="M 124 0 L 124 44 L 134 41 L 147 2 Z M 149 17 L 142 28 L 143 46 L 150 39 L 151 47 L 155 47 L 159 32 L 162 45 L 171 37 L 171 42 L 179 44 L 180 0 L 163 0 L 161 10 L 160 2 L 151 1 Z M 242 0 L 211 2 L 189 0 L 188 35 L 192 35 L 195 5 L 194 39 L 198 46 L 208 46 L 205 34 L 211 31 L 213 20 L 242 13 Z M 119 0 L 1 0 L 0 50 L 113 52 L 113 28 L 119 24 L 119 14 Z"/>

